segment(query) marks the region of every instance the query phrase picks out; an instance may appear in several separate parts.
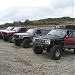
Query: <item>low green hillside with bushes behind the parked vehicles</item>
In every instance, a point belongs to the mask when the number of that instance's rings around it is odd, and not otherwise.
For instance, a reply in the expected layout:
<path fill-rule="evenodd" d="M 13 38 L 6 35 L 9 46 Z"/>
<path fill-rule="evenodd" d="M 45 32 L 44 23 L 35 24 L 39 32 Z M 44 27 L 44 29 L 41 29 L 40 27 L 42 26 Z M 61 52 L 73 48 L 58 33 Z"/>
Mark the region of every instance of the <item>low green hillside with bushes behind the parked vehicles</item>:
<path fill-rule="evenodd" d="M 52 25 L 63 25 L 63 24 L 75 24 L 75 18 L 71 17 L 61 17 L 61 18 L 46 18 L 40 20 L 30 21 L 26 19 L 24 22 L 13 22 L 5 23 L 0 25 L 0 28 L 8 26 L 52 26 Z"/>

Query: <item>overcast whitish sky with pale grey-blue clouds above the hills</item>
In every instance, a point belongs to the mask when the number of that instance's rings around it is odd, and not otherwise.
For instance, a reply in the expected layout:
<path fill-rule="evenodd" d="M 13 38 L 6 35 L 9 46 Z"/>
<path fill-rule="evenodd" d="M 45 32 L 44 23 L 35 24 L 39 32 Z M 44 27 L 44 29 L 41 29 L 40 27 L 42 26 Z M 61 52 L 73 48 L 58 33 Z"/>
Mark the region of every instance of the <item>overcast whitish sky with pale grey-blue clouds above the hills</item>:
<path fill-rule="evenodd" d="M 74 16 L 75 0 L 0 0 L 0 24 Z"/>

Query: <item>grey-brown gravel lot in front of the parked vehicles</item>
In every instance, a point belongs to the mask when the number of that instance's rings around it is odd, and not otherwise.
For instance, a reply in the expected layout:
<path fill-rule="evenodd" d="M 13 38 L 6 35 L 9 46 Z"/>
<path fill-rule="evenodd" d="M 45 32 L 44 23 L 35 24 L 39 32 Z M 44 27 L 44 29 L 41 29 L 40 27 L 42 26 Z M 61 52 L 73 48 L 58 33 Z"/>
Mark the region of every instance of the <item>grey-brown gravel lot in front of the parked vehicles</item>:
<path fill-rule="evenodd" d="M 75 55 L 66 50 L 60 60 L 52 60 L 45 51 L 37 55 L 0 40 L 0 75 L 75 75 Z"/>

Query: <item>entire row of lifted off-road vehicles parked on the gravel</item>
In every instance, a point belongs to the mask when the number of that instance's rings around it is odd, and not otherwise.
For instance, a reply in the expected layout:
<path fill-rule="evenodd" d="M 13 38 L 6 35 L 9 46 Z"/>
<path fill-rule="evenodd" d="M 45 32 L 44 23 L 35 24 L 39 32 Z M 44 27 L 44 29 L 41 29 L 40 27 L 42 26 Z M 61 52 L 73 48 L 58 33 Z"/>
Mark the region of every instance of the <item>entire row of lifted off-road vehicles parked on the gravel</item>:
<path fill-rule="evenodd" d="M 33 44 L 33 52 L 41 54 L 46 50 L 53 60 L 59 60 L 62 51 L 74 49 L 75 54 L 75 26 L 58 26 L 50 30 L 48 28 L 14 27 L 10 31 L 1 32 L 4 41 L 14 42 L 16 46 L 29 48 Z"/>

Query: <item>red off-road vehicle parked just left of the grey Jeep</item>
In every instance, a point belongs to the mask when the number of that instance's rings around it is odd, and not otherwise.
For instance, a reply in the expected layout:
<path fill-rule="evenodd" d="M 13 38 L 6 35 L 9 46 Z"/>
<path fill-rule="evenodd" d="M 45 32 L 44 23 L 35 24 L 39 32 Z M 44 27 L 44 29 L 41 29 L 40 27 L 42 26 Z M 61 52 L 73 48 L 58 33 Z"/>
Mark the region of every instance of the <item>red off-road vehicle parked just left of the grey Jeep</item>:
<path fill-rule="evenodd" d="M 15 27 L 11 31 L 3 31 L 2 33 L 3 39 L 4 41 L 9 41 L 11 43 L 13 42 L 13 35 L 15 33 L 22 33 L 22 32 L 26 32 L 26 27 Z"/>

